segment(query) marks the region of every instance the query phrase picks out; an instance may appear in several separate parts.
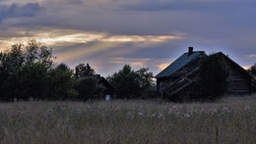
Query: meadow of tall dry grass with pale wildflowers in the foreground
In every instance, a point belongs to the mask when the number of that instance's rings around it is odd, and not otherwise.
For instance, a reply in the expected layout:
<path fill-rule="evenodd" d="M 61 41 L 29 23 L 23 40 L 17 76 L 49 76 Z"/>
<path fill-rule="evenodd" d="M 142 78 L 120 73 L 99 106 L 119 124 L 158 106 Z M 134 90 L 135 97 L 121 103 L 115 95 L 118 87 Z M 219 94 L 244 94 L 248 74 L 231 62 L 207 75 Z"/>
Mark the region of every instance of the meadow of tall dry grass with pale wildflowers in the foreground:
<path fill-rule="evenodd" d="M 0 104 L 0 143 L 256 143 L 256 95 L 215 103 L 161 100 Z"/>

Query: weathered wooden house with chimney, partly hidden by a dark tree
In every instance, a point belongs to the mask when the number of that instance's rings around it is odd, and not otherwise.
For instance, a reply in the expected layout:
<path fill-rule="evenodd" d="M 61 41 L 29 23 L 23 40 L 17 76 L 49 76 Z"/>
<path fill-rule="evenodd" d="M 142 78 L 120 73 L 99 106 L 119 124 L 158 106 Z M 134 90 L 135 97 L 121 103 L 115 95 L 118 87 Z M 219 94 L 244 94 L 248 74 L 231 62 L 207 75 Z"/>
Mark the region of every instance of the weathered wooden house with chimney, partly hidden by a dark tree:
<path fill-rule="evenodd" d="M 252 77 L 238 64 L 225 56 L 222 52 L 216 53 L 224 58 L 230 73 L 226 94 L 248 94 L 252 92 Z M 208 58 L 204 51 L 193 51 L 181 55 L 162 72 L 156 75 L 158 95 L 169 99 L 180 96 L 208 95 L 208 89 L 200 84 L 200 68 L 202 60 Z"/>

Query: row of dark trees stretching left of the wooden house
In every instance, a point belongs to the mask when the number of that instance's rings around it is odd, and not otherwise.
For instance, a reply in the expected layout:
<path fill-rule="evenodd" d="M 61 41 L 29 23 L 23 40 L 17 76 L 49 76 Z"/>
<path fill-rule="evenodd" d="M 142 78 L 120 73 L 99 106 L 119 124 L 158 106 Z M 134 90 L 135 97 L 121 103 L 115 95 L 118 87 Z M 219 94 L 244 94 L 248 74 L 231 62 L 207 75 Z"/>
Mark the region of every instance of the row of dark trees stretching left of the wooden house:
<path fill-rule="evenodd" d="M 56 64 L 52 49 L 35 39 L 14 44 L 0 53 L 0 100 L 83 100 L 99 99 L 105 87 L 89 64 L 75 70 Z M 156 96 L 154 75 L 149 69 L 132 70 L 125 65 L 106 79 L 119 99 Z"/>

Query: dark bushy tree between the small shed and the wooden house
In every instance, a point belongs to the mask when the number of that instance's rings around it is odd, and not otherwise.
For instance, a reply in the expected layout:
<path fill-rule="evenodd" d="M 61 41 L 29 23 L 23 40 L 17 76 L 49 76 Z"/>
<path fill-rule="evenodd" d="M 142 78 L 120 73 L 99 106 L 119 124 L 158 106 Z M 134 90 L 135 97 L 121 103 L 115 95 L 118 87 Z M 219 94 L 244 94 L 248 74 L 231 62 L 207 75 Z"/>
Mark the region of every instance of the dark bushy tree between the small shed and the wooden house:
<path fill-rule="evenodd" d="M 119 72 L 114 72 L 107 79 L 117 89 L 117 98 L 148 98 L 153 97 L 153 73 L 148 69 L 134 72 L 125 65 Z M 151 93 L 152 92 L 152 93 Z M 155 94 L 154 94 L 155 95 Z"/>

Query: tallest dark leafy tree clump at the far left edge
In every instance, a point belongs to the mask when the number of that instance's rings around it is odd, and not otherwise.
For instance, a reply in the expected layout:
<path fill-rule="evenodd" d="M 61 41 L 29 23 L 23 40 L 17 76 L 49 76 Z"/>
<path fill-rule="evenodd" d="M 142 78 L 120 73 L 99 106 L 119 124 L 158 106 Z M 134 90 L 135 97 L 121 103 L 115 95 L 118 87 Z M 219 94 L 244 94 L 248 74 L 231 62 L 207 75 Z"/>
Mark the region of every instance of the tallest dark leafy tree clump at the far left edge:
<path fill-rule="evenodd" d="M 30 39 L 26 45 L 14 44 L 11 50 L 0 55 L 1 96 L 5 99 L 43 98 L 45 77 L 53 60 L 52 50 Z M 4 77 L 2 76 L 4 75 Z"/>

